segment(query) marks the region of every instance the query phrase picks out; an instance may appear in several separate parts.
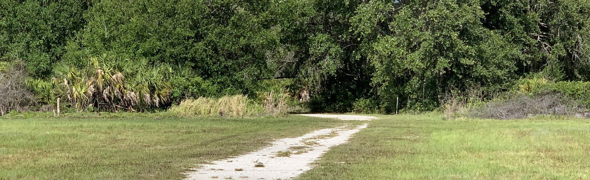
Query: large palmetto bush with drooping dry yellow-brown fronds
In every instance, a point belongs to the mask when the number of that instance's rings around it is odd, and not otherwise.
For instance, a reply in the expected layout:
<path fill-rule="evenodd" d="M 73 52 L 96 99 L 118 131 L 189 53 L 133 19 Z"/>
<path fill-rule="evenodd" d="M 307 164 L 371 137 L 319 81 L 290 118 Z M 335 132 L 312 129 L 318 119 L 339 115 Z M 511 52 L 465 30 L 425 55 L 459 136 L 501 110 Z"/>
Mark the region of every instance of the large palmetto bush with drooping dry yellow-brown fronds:
<path fill-rule="evenodd" d="M 90 58 L 85 67 L 58 65 L 53 83 L 55 94 L 67 99 L 77 112 L 89 107 L 136 111 L 169 102 L 172 74 L 166 64 L 102 55 Z"/>

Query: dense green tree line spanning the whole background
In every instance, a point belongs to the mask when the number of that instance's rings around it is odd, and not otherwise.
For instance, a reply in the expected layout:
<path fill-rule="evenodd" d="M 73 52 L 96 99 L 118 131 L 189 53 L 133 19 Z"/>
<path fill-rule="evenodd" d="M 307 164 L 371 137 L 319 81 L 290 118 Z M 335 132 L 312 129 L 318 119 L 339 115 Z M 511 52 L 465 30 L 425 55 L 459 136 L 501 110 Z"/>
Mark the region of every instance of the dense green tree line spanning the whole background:
<path fill-rule="evenodd" d="M 529 76 L 587 81 L 589 38 L 587 0 L 0 0 L 0 61 L 24 62 L 35 81 L 112 67 L 136 81 L 122 90 L 169 104 L 290 78 L 314 111 L 432 110 Z"/>

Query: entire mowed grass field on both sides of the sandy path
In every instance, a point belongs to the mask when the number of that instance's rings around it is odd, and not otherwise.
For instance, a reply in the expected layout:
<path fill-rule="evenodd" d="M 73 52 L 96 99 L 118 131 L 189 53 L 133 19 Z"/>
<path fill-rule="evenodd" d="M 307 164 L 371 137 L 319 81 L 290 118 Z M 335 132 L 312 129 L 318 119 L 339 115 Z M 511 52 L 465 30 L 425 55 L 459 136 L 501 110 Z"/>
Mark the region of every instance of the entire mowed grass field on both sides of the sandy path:
<path fill-rule="evenodd" d="M 590 179 L 590 120 L 379 116 L 301 175 L 312 179 Z M 339 120 L 0 120 L 0 179 L 182 179 L 195 163 Z"/>

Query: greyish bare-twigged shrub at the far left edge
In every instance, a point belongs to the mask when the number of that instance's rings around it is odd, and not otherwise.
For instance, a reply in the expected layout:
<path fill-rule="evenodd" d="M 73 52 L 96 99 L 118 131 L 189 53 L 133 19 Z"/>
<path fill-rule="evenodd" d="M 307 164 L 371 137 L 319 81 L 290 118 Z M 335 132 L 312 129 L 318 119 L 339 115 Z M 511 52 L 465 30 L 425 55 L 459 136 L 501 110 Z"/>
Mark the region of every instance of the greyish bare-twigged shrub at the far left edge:
<path fill-rule="evenodd" d="M 26 110 L 35 103 L 35 97 L 25 85 L 25 74 L 25 66 L 21 63 L 0 71 L 0 115 L 11 110 Z"/>

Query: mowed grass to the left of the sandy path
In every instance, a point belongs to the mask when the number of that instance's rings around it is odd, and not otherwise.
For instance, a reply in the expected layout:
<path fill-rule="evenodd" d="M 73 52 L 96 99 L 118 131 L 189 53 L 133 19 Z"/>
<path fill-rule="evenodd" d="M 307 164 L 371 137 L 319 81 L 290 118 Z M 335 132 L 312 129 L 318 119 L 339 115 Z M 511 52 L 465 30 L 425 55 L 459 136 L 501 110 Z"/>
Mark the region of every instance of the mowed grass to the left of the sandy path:
<path fill-rule="evenodd" d="M 0 179 L 182 179 L 196 163 L 358 122 L 257 119 L 0 119 Z"/>

